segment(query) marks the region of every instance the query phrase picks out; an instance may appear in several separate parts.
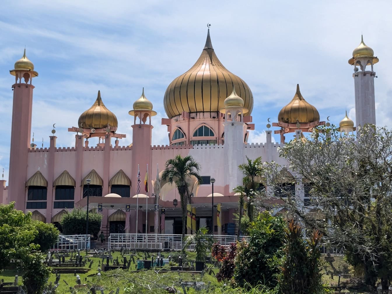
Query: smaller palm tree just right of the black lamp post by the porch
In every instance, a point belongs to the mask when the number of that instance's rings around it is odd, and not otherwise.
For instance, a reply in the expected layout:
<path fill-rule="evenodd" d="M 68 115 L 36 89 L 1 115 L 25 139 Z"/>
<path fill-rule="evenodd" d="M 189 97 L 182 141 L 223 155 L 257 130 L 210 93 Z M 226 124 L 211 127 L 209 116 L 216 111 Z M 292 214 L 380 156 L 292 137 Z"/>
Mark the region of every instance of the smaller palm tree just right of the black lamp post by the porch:
<path fill-rule="evenodd" d="M 256 181 L 255 179 L 259 176 L 260 174 L 260 165 L 262 164 L 261 162 L 261 156 L 256 158 L 255 160 L 251 160 L 248 156 L 246 156 L 247 162 L 240 164 L 238 166 L 238 169 L 242 172 L 242 174 L 245 176 L 245 178 L 249 178 L 250 182 L 248 181 L 247 183 L 247 196 L 248 196 L 248 217 L 249 221 L 252 221 L 253 219 L 253 208 L 251 206 L 251 201 L 252 201 L 252 192 L 256 191 Z M 245 187 L 245 181 L 244 181 L 244 187 Z"/>

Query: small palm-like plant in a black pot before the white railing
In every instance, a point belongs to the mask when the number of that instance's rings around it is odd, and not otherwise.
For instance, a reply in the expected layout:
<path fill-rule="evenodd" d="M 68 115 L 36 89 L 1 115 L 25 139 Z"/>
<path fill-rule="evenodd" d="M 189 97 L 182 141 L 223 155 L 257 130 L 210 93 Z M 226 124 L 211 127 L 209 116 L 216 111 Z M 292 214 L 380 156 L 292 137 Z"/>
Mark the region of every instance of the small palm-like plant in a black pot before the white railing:
<path fill-rule="evenodd" d="M 205 258 L 211 250 L 211 245 L 214 241 L 212 235 L 206 227 L 202 227 L 196 231 L 195 234 L 185 237 L 184 250 L 194 245 L 194 252 L 196 252 L 195 270 L 201 271 L 204 269 Z"/>

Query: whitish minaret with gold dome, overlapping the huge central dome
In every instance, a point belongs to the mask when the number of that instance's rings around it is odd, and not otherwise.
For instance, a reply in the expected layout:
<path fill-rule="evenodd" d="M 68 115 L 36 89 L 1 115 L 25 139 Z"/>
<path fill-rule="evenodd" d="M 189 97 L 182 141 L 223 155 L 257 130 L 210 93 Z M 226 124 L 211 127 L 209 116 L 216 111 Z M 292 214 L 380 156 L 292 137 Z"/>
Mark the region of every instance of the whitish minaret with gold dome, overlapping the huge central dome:
<path fill-rule="evenodd" d="M 225 145 L 223 152 L 225 154 L 225 183 L 229 183 L 229 191 L 237 185 L 242 185 L 243 175 L 238 169 L 238 165 L 244 162 L 244 134 L 246 124 L 243 121 L 243 114 L 248 112 L 244 108 L 243 99 L 236 94 L 233 85 L 233 91 L 229 97 L 223 102 L 224 107 L 220 110 L 225 114 L 225 122 L 223 123 L 225 131 Z M 225 191 L 226 192 L 226 191 Z"/>

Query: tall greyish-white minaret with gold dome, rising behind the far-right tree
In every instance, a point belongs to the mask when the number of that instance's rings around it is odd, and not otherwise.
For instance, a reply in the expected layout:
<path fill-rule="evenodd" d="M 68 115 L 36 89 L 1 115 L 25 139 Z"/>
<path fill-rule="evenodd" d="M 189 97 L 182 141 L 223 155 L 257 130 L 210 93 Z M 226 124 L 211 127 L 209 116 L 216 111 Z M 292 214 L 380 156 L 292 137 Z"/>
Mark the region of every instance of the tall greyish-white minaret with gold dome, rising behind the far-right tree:
<path fill-rule="evenodd" d="M 352 51 L 352 58 L 348 60 L 354 65 L 355 88 L 355 120 L 357 126 L 376 124 L 376 106 L 374 103 L 374 76 L 373 65 L 378 62 L 372 48 L 365 45 L 363 36 L 361 44 Z M 367 67 L 370 65 L 370 67 Z"/>

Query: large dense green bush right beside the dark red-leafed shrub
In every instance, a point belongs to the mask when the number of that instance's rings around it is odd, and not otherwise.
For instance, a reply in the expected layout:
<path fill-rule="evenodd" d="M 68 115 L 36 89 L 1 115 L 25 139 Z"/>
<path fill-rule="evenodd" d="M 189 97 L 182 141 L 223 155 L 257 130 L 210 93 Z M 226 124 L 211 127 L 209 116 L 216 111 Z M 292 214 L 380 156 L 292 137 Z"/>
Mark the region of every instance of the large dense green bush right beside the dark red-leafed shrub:
<path fill-rule="evenodd" d="M 285 221 L 268 212 L 260 213 L 248 228 L 249 241 L 237 245 L 234 280 L 239 286 L 262 284 L 276 286 L 279 266 L 274 258 L 282 256 Z"/>

